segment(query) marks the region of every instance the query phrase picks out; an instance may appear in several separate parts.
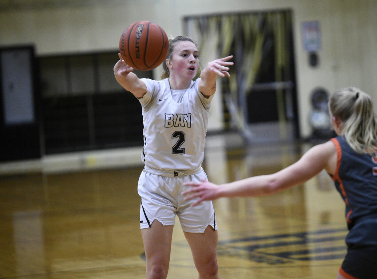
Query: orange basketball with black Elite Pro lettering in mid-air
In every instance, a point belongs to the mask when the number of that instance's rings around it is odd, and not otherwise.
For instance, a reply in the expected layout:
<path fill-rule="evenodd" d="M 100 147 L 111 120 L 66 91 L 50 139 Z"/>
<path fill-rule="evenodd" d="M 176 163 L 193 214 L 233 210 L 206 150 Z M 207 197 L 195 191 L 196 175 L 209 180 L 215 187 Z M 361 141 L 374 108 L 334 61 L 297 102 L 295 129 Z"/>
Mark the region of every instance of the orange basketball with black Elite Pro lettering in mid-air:
<path fill-rule="evenodd" d="M 160 26 L 151 21 L 137 21 L 124 30 L 119 41 L 124 61 L 139 71 L 148 71 L 165 60 L 169 40 Z"/>

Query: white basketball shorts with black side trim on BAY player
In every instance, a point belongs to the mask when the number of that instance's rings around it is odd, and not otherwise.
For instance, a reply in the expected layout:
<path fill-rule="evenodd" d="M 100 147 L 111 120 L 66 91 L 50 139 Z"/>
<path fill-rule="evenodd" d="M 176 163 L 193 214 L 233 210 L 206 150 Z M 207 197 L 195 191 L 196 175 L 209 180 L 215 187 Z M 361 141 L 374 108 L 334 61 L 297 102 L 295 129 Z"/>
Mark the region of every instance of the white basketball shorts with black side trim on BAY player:
<path fill-rule="evenodd" d="M 154 220 L 162 225 L 174 225 L 178 216 L 182 230 L 189 233 L 204 233 L 210 225 L 217 230 L 212 201 L 204 201 L 190 207 L 195 199 L 184 201 L 181 192 L 187 189 L 184 182 L 202 181 L 207 175 L 202 169 L 194 175 L 162 176 L 141 172 L 138 193 L 141 196 L 140 228 L 149 228 Z"/>

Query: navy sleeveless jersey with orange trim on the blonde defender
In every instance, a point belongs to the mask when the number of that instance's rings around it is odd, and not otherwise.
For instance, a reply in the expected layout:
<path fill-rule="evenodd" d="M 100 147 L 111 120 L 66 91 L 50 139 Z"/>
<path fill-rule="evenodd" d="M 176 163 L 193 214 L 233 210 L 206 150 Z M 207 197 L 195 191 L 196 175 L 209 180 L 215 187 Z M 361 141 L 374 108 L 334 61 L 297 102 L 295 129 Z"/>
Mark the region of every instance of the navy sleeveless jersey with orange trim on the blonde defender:
<path fill-rule="evenodd" d="M 355 152 L 344 136 L 330 139 L 337 150 L 337 168 L 332 179 L 346 203 L 351 229 L 361 218 L 377 216 L 377 157 Z"/>

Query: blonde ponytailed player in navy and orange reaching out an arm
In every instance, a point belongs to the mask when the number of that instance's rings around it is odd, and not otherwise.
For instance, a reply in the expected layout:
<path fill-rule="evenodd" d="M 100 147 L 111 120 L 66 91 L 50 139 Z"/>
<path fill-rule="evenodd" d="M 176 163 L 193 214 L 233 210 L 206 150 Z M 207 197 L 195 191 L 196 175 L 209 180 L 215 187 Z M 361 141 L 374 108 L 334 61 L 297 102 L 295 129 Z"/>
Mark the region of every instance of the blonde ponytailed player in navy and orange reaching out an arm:
<path fill-rule="evenodd" d="M 377 126 L 371 98 L 355 87 L 329 100 L 336 138 L 312 147 L 293 165 L 271 175 L 215 185 L 188 182 L 193 205 L 220 197 L 263 196 L 302 184 L 325 169 L 346 204 L 348 251 L 337 279 L 377 276 Z"/>

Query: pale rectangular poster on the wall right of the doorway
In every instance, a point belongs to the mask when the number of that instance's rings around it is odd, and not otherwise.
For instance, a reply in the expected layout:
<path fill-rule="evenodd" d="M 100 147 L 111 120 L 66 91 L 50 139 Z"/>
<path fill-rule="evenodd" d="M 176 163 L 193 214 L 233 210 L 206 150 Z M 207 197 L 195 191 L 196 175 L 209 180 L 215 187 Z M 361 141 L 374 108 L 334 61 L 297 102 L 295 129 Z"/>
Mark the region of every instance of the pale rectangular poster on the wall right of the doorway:
<path fill-rule="evenodd" d="M 301 23 L 302 43 L 308 52 L 316 52 L 321 48 L 319 21 L 303 21 Z"/>

